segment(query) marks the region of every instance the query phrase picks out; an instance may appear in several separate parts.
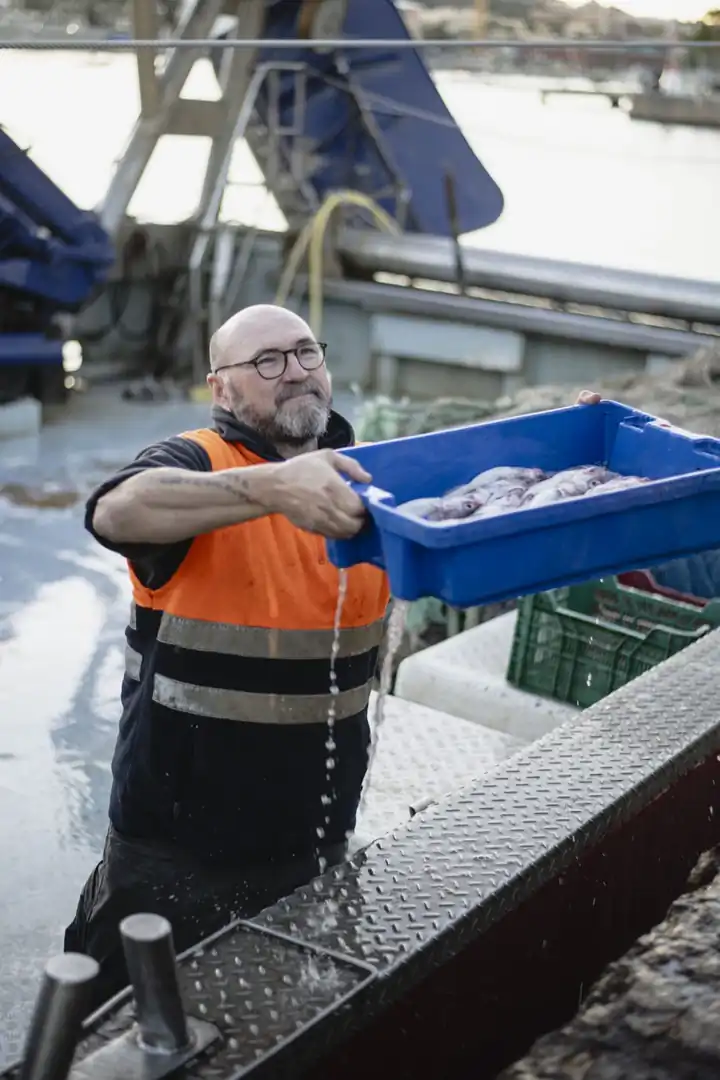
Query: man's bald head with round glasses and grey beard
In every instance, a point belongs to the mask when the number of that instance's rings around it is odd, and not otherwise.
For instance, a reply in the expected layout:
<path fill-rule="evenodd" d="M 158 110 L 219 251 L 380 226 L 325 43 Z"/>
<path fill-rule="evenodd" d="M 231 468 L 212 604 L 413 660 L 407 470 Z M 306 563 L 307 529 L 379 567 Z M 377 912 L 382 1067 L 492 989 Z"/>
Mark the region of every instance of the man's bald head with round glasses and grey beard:
<path fill-rule="evenodd" d="M 317 445 L 330 415 L 330 379 L 324 351 L 303 319 L 256 303 L 220 326 L 209 351 L 215 405 L 281 453 Z"/>

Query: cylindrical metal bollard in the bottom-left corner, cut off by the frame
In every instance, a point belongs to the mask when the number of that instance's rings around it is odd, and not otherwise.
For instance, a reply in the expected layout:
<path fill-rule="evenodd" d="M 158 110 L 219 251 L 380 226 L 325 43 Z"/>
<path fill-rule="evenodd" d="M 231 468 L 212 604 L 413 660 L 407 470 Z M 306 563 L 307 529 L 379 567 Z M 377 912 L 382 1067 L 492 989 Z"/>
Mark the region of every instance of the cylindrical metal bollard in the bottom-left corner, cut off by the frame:
<path fill-rule="evenodd" d="M 66 1080 L 99 970 L 95 960 L 79 953 L 49 961 L 30 1021 L 21 1080 Z"/>

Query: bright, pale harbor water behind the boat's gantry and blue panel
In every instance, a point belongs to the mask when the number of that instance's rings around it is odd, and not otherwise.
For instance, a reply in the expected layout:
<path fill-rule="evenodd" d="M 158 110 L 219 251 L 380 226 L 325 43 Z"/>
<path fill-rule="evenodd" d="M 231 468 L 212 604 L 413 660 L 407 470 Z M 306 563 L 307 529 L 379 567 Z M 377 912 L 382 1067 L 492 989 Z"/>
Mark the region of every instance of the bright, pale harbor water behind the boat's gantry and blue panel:
<path fill-rule="evenodd" d="M 543 104 L 540 80 L 460 71 L 436 78 L 505 194 L 501 219 L 468 243 L 681 278 L 720 275 L 720 132 L 631 121 L 603 98 Z M 217 94 L 209 64 L 198 64 L 184 96 Z M 10 134 L 73 201 L 96 205 L 137 114 L 133 57 L 5 51 L 0 100 Z M 165 138 L 131 213 L 160 222 L 189 216 L 208 144 Z M 244 146 L 232 179 L 226 219 L 282 227 Z"/>

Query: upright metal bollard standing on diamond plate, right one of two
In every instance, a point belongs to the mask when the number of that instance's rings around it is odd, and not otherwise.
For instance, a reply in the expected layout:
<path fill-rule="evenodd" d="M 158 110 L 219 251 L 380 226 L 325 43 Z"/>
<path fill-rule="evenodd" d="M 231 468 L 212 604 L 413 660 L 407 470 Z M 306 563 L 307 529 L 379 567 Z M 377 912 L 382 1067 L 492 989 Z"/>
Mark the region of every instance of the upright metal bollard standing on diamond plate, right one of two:
<path fill-rule="evenodd" d="M 191 1038 L 169 922 L 160 915 L 131 915 L 120 923 L 120 933 L 135 993 L 140 1047 L 157 1054 L 187 1050 Z"/>

